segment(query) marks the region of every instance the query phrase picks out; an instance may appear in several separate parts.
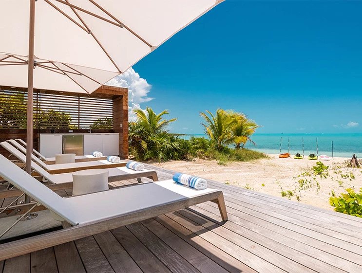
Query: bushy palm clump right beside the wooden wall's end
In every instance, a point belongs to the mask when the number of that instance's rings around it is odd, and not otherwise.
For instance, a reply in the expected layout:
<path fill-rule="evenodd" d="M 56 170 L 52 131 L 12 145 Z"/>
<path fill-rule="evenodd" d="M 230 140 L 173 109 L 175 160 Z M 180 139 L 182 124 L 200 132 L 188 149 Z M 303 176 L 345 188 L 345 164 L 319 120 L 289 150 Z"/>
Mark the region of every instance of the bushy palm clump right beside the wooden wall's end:
<path fill-rule="evenodd" d="M 177 149 L 177 143 L 172 143 L 167 133 L 167 126 L 176 118 L 166 120 L 162 116 L 169 114 L 167 110 L 156 114 L 151 108 L 146 111 L 134 109 L 137 119 L 129 124 L 129 141 L 136 160 L 157 158 L 167 160 L 172 149 Z"/>

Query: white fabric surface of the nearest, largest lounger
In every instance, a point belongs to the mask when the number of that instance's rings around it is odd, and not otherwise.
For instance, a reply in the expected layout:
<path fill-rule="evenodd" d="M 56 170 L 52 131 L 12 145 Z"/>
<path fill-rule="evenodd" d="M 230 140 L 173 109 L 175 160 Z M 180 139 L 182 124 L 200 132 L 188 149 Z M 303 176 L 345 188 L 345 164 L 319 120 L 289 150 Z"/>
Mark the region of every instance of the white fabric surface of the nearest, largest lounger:
<path fill-rule="evenodd" d="M 72 225 L 122 216 L 217 191 L 194 190 L 167 180 L 65 199 L 2 155 L 0 176 Z"/>

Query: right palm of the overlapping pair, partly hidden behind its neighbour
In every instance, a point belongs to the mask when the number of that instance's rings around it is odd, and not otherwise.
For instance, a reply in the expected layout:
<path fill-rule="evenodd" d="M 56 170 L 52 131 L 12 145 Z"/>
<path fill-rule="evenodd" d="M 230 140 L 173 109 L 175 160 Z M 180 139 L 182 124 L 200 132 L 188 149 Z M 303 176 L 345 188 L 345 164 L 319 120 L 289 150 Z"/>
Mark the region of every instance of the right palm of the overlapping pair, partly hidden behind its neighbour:
<path fill-rule="evenodd" d="M 250 136 L 255 132 L 260 126 L 255 123 L 253 120 L 239 119 L 238 122 L 232 128 L 233 141 L 236 149 L 240 149 L 249 141 L 253 145 L 256 145 L 250 138 Z"/>

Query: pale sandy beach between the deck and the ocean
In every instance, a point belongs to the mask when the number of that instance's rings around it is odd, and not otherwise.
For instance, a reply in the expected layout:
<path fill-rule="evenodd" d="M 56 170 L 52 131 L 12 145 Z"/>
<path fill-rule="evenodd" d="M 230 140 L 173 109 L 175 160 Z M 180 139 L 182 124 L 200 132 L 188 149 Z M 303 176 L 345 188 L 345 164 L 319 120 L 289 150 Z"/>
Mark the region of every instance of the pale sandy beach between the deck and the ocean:
<path fill-rule="evenodd" d="M 294 193 L 294 196 L 290 197 L 291 200 L 297 201 L 297 196 L 299 196 L 300 202 L 329 210 L 333 210 L 329 204 L 332 190 L 338 196 L 345 192 L 345 188 L 354 187 L 355 191 L 359 191 L 362 187 L 362 169 L 343 167 L 345 165 L 343 162 L 350 158 L 335 157 L 333 161 L 323 161 L 324 165 L 328 165 L 329 168 L 328 176 L 321 178 L 319 175 L 313 175 L 311 170 L 317 161 L 308 160 L 307 156 L 301 160 L 293 157 L 278 158 L 279 155 L 275 154 L 268 154 L 268 156 L 269 159 L 253 162 L 232 162 L 226 165 L 219 165 L 215 160 L 195 159 L 189 162 L 169 161 L 161 163 L 159 166 L 246 187 L 277 197 L 281 197 L 282 191 L 287 192 L 289 190 Z M 301 175 L 305 172 L 309 173 L 310 176 Z M 309 188 L 299 191 L 300 183 L 298 181 L 301 179 Z M 320 185 L 319 189 L 318 184 Z M 288 197 L 284 198 L 287 199 Z"/>

